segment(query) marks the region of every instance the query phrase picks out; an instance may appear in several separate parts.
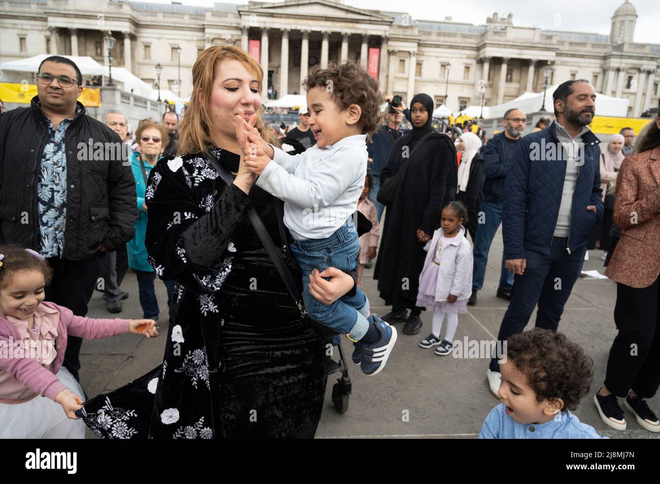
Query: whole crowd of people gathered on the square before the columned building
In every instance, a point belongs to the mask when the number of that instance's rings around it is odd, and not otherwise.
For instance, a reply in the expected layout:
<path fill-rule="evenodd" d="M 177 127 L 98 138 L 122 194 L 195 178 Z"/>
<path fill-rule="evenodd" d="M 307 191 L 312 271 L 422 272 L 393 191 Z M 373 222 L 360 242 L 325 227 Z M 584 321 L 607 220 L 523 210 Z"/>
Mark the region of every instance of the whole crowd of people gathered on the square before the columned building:
<path fill-rule="evenodd" d="M 0 343 L 40 351 L 0 357 L 0 437 L 83 437 L 83 421 L 99 437 L 314 437 L 329 338 L 345 335 L 352 361 L 378 375 L 395 325 L 419 334 L 426 310 L 419 346 L 448 355 L 500 224 L 508 353 L 486 369 L 500 404 L 480 437 L 599 438 L 571 413 L 593 361 L 558 332 L 590 247 L 607 251 L 617 284 L 618 334 L 594 404 L 626 429 L 625 398 L 660 431 L 646 402 L 660 386 L 660 117 L 635 143 L 624 129 L 601 148 L 588 127 L 595 90 L 569 80 L 554 92 L 554 120 L 523 136 L 527 114 L 509 109 L 484 144 L 463 115 L 447 123 L 457 136 L 438 130 L 424 93 L 409 106 L 388 100 L 381 124 L 378 81 L 348 61 L 310 69 L 308 105 L 289 128 L 264 122 L 262 79 L 246 51 L 209 47 L 193 67 L 200 101 L 132 131 L 120 111 L 104 123 L 86 115 L 78 67 L 51 56 L 30 107 L 1 112 Z M 92 142 L 122 149 L 83 160 L 77 150 Z M 391 305 L 382 317 L 362 292 L 372 260 Z M 123 311 L 129 268 L 142 318 L 86 318 L 94 289 Z M 162 365 L 86 398 L 82 338 L 157 336 L 156 277 L 168 294 Z M 126 413 L 106 412 L 110 400 Z"/>

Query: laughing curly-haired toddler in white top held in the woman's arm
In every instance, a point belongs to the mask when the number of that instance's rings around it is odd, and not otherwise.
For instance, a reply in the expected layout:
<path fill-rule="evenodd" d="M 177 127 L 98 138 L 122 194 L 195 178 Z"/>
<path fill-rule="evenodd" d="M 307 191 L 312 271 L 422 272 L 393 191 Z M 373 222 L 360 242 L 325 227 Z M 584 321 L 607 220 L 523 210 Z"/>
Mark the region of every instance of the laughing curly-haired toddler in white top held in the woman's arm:
<path fill-rule="evenodd" d="M 241 116 L 236 117 L 237 138 L 246 167 L 259 176 L 257 187 L 284 200 L 284 225 L 302 273 L 316 269 L 323 276 L 329 267 L 352 270 L 356 265 L 360 239 L 352 215 L 364 189 L 366 137 L 380 126 L 383 96 L 378 80 L 352 61 L 312 67 L 304 88 L 314 146 L 289 155 L 266 144 Z M 366 375 L 378 374 L 397 340 L 397 330 L 370 313 L 360 287 L 355 295 L 325 305 L 310 294 L 308 277 L 303 277 L 302 285 L 310 317 L 345 334 L 355 344 L 354 363 L 360 363 Z"/>

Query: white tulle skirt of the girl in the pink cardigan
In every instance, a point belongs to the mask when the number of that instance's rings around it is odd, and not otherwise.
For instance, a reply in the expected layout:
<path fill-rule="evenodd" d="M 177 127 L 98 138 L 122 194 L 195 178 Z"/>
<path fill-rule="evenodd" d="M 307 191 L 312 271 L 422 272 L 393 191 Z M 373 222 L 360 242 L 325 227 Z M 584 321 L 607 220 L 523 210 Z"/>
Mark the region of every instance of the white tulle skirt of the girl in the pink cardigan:
<path fill-rule="evenodd" d="M 81 386 L 65 367 L 57 378 L 84 400 Z M 60 404 L 39 395 L 24 404 L 0 404 L 0 439 L 84 439 L 84 422 L 70 419 Z"/>

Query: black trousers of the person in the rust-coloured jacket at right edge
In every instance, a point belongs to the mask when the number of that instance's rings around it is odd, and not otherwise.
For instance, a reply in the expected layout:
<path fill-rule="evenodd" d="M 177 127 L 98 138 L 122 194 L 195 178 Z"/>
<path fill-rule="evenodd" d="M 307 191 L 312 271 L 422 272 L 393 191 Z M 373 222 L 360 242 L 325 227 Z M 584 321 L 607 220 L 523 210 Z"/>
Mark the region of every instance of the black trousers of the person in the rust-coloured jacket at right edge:
<path fill-rule="evenodd" d="M 605 386 L 624 397 L 628 390 L 651 398 L 660 386 L 660 277 L 649 287 L 616 284 L 614 338 Z"/>

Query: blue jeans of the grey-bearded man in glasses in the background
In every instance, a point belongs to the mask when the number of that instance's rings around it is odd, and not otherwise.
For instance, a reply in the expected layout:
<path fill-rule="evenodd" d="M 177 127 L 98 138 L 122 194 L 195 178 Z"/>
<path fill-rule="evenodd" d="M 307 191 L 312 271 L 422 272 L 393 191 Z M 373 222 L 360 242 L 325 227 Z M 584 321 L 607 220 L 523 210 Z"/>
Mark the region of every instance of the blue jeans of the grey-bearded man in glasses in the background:
<path fill-rule="evenodd" d="M 477 224 L 477 235 L 475 236 L 475 247 L 473 257 L 475 265 L 473 268 L 472 287 L 481 289 L 484 286 L 486 276 L 486 262 L 488 262 L 488 251 L 495 237 L 498 227 L 502 223 L 502 204 L 496 202 L 481 202 L 481 211 L 484 212 L 485 224 Z M 502 253 L 502 269 L 500 270 L 500 287 L 505 291 L 511 291 L 513 286 L 513 272 L 506 270 L 504 266 L 504 253 Z"/>

